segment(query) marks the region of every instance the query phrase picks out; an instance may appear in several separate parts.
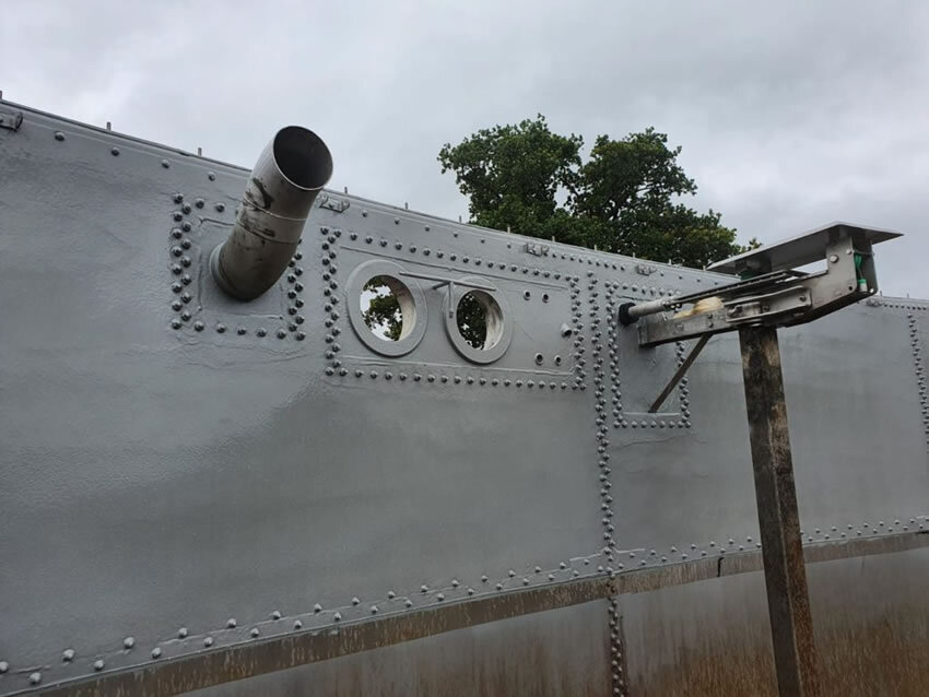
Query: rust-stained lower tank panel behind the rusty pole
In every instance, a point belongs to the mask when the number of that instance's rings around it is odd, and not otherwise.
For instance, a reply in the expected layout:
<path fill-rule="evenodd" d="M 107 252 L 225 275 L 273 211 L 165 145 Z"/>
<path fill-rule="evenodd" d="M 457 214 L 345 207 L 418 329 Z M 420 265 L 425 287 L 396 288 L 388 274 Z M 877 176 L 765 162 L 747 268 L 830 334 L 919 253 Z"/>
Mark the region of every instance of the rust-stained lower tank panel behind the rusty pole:
<path fill-rule="evenodd" d="M 824 695 L 929 689 L 925 550 L 807 567 Z M 777 694 L 764 576 L 622 598 L 633 695 Z"/>

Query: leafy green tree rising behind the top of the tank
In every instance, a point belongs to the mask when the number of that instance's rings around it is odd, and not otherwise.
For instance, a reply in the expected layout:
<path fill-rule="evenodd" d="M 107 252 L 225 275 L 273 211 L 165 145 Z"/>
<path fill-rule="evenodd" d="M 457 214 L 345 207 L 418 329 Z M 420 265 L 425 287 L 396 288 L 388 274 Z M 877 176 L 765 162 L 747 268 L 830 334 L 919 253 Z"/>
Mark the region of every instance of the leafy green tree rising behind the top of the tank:
<path fill-rule="evenodd" d="M 697 188 L 665 133 L 599 135 L 586 162 L 583 146 L 540 114 L 446 143 L 438 161 L 478 225 L 697 268 L 744 249 L 719 213 L 680 202 Z"/>

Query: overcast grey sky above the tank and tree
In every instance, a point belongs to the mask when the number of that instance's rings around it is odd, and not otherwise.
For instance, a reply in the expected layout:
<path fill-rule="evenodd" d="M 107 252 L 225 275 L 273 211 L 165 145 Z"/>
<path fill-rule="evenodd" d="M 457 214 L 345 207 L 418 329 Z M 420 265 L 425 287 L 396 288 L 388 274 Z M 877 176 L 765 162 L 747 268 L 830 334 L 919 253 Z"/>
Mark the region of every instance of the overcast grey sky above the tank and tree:
<path fill-rule="evenodd" d="M 443 143 L 544 114 L 587 143 L 655 126 L 741 239 L 890 227 L 886 294 L 929 297 L 925 2 L 10 2 L 4 97 L 251 166 L 275 129 L 331 186 L 467 216 Z"/>

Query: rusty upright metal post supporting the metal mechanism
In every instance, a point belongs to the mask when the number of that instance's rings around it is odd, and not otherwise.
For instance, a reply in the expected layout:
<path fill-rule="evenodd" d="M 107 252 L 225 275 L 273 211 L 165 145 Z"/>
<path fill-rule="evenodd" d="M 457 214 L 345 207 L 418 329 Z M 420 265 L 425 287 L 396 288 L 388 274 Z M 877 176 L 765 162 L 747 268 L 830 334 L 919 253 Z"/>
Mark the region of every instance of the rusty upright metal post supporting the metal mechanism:
<path fill-rule="evenodd" d="M 739 343 L 777 685 L 781 697 L 818 697 L 816 650 L 777 329 L 742 328 Z"/>

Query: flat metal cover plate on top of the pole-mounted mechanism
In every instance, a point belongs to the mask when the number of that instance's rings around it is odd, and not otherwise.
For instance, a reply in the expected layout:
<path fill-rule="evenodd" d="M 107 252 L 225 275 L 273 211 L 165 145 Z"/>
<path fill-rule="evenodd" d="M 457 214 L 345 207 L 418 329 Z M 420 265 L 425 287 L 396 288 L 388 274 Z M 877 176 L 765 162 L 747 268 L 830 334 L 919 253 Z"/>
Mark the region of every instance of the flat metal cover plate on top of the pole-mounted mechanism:
<path fill-rule="evenodd" d="M 822 258 L 822 252 L 833 237 L 836 239 L 840 233 L 845 231 L 851 234 L 863 235 L 871 244 L 886 241 L 895 237 L 902 237 L 902 233 L 879 227 L 866 227 L 856 223 L 846 223 L 836 221 L 828 223 L 822 227 L 800 233 L 793 237 L 788 237 L 772 245 L 765 245 L 757 249 L 717 261 L 709 264 L 707 269 L 719 273 L 738 274 L 740 271 L 750 265 L 753 259 L 765 259 L 771 262 L 771 269 L 792 269 L 818 261 Z"/>

